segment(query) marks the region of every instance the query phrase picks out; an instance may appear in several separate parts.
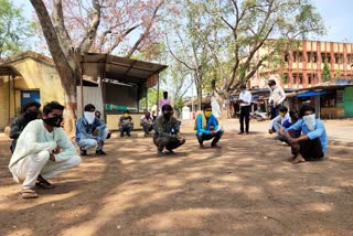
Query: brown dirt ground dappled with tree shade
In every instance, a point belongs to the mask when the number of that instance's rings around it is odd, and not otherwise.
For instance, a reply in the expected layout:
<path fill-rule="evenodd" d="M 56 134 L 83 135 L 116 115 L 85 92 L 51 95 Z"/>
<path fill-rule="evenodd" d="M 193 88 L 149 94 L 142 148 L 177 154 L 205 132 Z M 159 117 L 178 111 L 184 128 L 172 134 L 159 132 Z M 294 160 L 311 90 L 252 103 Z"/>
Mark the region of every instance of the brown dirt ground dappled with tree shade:
<path fill-rule="evenodd" d="M 1 138 L 0 235 L 353 235 L 352 148 L 293 165 L 264 132 L 228 129 L 221 150 L 199 150 L 184 130 L 168 158 L 151 138 L 113 138 L 36 200 L 18 196 Z"/>

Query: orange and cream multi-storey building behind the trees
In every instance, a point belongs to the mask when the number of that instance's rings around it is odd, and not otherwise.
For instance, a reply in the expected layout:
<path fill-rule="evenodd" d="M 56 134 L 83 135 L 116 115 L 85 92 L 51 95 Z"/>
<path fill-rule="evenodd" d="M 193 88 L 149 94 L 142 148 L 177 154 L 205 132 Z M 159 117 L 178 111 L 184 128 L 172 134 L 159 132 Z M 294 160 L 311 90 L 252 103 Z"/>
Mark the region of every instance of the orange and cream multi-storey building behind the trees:
<path fill-rule="evenodd" d="M 266 87 L 270 78 L 285 88 L 314 86 L 323 82 L 324 62 L 329 63 L 331 78 L 353 78 L 353 43 L 302 41 L 301 46 L 288 52 L 284 60 L 279 69 L 257 72 L 250 87 Z"/>

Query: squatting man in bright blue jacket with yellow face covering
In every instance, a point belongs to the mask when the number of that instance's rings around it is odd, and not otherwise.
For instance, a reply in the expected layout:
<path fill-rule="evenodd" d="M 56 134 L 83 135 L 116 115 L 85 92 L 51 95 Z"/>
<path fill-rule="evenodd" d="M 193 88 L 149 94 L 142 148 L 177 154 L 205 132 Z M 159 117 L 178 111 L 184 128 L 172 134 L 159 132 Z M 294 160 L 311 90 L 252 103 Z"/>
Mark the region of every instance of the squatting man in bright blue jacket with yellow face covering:
<path fill-rule="evenodd" d="M 204 111 L 196 115 L 196 136 L 200 148 L 204 149 L 203 141 L 213 139 L 211 148 L 221 148 L 217 146 L 224 130 L 218 126 L 217 119 L 212 115 L 211 105 L 204 107 Z"/>

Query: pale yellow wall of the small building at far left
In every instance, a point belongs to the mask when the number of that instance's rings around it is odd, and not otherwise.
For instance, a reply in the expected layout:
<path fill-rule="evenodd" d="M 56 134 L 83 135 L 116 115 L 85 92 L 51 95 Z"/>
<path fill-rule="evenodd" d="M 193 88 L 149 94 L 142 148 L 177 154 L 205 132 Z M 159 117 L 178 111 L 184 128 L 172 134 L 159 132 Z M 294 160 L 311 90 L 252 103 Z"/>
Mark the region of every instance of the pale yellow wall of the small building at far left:
<path fill-rule="evenodd" d="M 17 62 L 10 63 L 10 65 L 20 74 L 15 77 L 14 90 L 15 90 L 15 105 L 11 78 L 11 96 L 10 96 L 10 119 L 11 121 L 21 109 L 20 94 L 21 90 L 40 90 L 42 107 L 52 100 L 57 100 L 64 104 L 64 90 L 61 85 L 60 77 L 53 65 L 44 63 L 42 61 L 34 60 L 32 57 L 25 57 Z M 3 129 L 9 120 L 9 92 L 8 92 L 8 77 L 0 78 L 0 129 Z M 15 107 L 15 108 L 14 108 Z"/>

